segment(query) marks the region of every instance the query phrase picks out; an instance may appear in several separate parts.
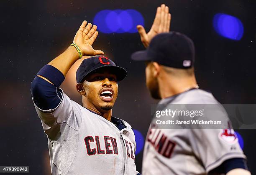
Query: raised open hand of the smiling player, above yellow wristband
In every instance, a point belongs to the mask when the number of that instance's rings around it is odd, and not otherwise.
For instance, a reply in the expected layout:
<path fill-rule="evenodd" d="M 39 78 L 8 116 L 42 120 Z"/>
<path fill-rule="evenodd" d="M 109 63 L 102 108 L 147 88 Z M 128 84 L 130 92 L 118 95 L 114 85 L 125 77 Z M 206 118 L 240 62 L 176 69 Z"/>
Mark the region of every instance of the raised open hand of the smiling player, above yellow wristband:
<path fill-rule="evenodd" d="M 94 50 L 92 48 L 92 44 L 95 41 L 98 31 L 97 26 L 91 23 L 84 21 L 74 36 L 74 43 L 78 45 L 80 50 L 82 51 L 82 55 L 95 56 L 95 55 L 103 55 L 104 52 L 101 50 Z"/>

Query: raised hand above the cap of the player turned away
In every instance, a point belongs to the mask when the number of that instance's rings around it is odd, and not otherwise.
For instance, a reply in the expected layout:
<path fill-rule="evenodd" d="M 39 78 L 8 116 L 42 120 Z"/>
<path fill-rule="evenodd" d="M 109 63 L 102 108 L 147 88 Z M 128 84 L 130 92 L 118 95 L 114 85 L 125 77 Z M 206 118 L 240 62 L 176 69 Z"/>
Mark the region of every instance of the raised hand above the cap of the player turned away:
<path fill-rule="evenodd" d="M 169 13 L 169 7 L 162 4 L 161 7 L 157 7 L 156 9 L 156 17 L 148 33 L 146 33 L 142 25 L 137 25 L 137 30 L 141 36 L 141 42 L 143 43 L 143 45 L 145 47 L 148 47 L 150 41 L 154 36 L 159 33 L 169 32 L 170 23 L 171 14 Z"/>

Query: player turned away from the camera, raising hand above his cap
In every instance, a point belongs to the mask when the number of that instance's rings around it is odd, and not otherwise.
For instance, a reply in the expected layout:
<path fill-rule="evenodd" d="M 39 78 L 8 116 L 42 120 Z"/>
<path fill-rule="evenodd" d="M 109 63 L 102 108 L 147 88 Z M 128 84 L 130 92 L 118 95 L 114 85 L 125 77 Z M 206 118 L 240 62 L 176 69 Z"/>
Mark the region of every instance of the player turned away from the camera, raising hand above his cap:
<path fill-rule="evenodd" d="M 161 5 L 148 33 L 138 26 L 147 49 L 132 59 L 146 62 L 151 96 L 161 99 L 159 105 L 219 104 L 198 88 L 194 44 L 184 34 L 169 32 L 169 16 L 168 7 Z M 233 129 L 162 129 L 151 122 L 142 164 L 143 175 L 251 174 Z"/>

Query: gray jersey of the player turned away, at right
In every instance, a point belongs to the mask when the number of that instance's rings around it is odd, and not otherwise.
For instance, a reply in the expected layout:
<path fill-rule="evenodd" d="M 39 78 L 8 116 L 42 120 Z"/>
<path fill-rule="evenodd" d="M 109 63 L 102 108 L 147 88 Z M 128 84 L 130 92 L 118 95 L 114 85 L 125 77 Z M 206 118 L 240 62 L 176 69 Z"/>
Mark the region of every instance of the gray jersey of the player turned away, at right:
<path fill-rule="evenodd" d="M 193 89 L 163 99 L 159 104 L 219 103 L 211 93 Z M 142 174 L 205 175 L 225 160 L 246 158 L 238 139 L 229 142 L 229 136 L 235 137 L 234 130 L 149 127 L 143 152 Z"/>

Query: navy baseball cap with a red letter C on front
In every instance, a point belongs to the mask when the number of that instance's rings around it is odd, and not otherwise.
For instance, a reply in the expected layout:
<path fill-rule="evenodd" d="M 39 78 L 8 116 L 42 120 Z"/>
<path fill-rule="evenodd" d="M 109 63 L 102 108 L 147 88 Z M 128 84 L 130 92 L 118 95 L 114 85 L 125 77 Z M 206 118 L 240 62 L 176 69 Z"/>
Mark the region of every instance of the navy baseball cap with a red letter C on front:
<path fill-rule="evenodd" d="M 116 66 L 113 61 L 105 56 L 95 56 L 84 59 L 77 69 L 77 83 L 82 83 L 84 77 L 90 73 L 97 72 L 102 69 L 107 69 L 117 77 L 117 81 L 123 80 L 127 72 L 123 67 Z"/>

